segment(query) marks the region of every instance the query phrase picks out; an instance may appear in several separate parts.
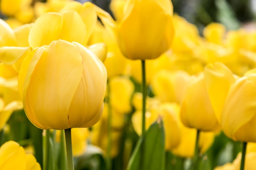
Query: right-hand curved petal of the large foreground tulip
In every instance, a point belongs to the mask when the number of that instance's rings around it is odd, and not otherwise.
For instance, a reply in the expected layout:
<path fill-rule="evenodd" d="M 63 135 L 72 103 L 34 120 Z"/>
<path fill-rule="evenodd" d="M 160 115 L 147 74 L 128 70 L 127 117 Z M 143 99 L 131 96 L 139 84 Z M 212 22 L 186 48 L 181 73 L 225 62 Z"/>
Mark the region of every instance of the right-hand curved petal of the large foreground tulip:
<path fill-rule="evenodd" d="M 70 127 L 89 127 L 98 122 L 102 115 L 107 72 L 100 59 L 90 50 L 79 43 L 73 44 L 79 48 L 86 64 L 83 65 L 83 77 L 70 105 L 69 123 Z"/>

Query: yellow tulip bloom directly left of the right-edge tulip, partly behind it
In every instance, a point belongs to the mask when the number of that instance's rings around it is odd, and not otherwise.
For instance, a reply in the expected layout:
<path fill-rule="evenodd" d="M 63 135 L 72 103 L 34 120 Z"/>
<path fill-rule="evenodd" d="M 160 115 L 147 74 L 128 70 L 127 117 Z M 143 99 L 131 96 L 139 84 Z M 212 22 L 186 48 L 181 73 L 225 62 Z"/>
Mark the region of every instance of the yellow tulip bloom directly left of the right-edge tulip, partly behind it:
<path fill-rule="evenodd" d="M 207 92 L 203 74 L 188 84 L 180 109 L 185 126 L 201 131 L 217 131 L 220 128 Z"/>

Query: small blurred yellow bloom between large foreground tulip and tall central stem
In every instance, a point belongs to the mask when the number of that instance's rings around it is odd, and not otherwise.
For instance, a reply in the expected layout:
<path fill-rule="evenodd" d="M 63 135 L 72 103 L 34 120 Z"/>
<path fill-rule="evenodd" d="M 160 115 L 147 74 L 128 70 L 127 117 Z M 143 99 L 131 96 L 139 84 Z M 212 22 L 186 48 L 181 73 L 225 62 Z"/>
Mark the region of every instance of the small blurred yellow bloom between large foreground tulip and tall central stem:
<path fill-rule="evenodd" d="M 128 77 L 116 76 L 109 79 L 110 104 L 119 113 L 130 113 L 130 100 L 134 92 L 134 85 Z"/>

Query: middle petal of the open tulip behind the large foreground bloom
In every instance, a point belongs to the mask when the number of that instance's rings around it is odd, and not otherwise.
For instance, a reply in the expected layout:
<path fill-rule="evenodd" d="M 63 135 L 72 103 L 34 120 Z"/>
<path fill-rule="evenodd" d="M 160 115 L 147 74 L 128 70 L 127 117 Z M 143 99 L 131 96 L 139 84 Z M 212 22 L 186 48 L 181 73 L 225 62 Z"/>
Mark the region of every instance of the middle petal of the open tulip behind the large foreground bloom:
<path fill-rule="evenodd" d="M 76 41 L 80 44 L 83 43 L 87 34 L 86 27 L 81 16 L 76 11 L 65 11 L 62 14 L 61 23 L 59 39 L 69 42 Z"/>

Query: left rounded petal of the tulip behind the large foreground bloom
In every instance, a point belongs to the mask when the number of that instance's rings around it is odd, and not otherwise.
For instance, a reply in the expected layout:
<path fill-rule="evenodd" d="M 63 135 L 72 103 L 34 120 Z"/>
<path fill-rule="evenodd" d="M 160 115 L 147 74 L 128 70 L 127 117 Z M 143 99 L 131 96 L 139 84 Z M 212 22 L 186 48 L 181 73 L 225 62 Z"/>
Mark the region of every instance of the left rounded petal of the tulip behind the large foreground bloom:
<path fill-rule="evenodd" d="M 29 32 L 29 45 L 34 49 L 60 39 L 61 22 L 59 13 L 45 13 L 40 16 Z"/>

